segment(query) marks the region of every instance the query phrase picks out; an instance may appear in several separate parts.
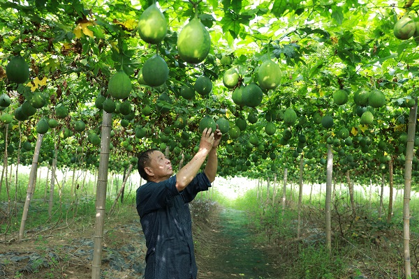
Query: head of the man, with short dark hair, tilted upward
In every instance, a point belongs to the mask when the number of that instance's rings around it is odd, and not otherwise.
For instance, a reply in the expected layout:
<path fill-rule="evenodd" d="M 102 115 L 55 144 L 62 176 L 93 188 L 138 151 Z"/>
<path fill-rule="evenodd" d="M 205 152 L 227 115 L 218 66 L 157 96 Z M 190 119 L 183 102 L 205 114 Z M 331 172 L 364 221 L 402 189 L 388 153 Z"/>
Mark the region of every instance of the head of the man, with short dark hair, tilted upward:
<path fill-rule="evenodd" d="M 157 149 L 149 149 L 138 155 L 138 173 L 147 181 L 159 182 L 173 174 L 170 160 Z"/>

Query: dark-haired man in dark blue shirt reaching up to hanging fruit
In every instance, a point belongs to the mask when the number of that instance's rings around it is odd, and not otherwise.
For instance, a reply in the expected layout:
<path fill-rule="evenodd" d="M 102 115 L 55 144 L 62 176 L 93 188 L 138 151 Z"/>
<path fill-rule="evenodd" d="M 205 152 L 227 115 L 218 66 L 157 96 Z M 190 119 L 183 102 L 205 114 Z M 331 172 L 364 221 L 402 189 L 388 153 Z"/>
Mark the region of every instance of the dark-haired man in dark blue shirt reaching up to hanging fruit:
<path fill-rule="evenodd" d="M 215 133 L 205 128 L 198 152 L 175 176 L 161 151 L 150 149 L 138 156 L 138 172 L 147 181 L 136 199 L 147 245 L 145 279 L 196 279 L 189 202 L 214 181 L 220 140 L 218 126 Z M 198 173 L 206 159 L 204 171 Z"/>

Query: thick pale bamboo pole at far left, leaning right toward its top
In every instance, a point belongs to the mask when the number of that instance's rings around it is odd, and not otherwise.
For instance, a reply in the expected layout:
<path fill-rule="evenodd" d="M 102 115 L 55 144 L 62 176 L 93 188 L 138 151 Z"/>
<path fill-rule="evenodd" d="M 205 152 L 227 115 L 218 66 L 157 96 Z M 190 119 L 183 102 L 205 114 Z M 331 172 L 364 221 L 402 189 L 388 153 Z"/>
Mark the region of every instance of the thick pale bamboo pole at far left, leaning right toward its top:
<path fill-rule="evenodd" d="M 36 146 L 34 151 L 34 158 L 32 158 L 31 172 L 29 173 L 29 183 L 27 188 L 27 197 L 23 206 L 22 221 L 20 222 L 19 230 L 19 241 L 22 241 L 24 235 L 24 226 L 26 225 L 26 220 L 28 217 L 29 204 L 31 203 L 32 195 L 34 194 L 34 183 L 36 180 L 36 170 L 38 169 L 38 158 L 39 151 L 41 150 L 41 144 L 43 140 L 43 134 L 38 134 L 36 140 Z"/>

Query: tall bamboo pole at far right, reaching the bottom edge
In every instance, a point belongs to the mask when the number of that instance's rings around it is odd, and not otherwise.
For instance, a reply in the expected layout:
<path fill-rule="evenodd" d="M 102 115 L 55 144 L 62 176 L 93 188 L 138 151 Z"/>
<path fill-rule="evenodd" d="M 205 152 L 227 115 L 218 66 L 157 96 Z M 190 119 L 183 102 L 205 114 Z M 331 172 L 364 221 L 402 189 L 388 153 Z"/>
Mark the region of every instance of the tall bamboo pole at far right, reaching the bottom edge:
<path fill-rule="evenodd" d="M 416 117 L 418 115 L 418 98 L 409 112 L 407 128 L 406 160 L 404 162 L 404 199 L 403 199 L 403 250 L 404 250 L 404 276 L 411 278 L 410 258 L 410 199 L 412 182 L 413 145 L 415 140 Z"/>

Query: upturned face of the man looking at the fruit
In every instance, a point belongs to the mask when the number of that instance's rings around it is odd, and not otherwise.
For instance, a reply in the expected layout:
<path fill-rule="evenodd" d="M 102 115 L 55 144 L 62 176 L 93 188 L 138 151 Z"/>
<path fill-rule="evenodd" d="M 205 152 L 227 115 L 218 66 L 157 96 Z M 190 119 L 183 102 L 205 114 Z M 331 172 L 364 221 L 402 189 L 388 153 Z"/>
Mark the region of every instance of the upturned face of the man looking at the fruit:
<path fill-rule="evenodd" d="M 161 151 L 153 151 L 150 154 L 150 162 L 149 166 L 146 167 L 146 172 L 152 181 L 166 180 L 173 174 L 172 163 Z"/>

